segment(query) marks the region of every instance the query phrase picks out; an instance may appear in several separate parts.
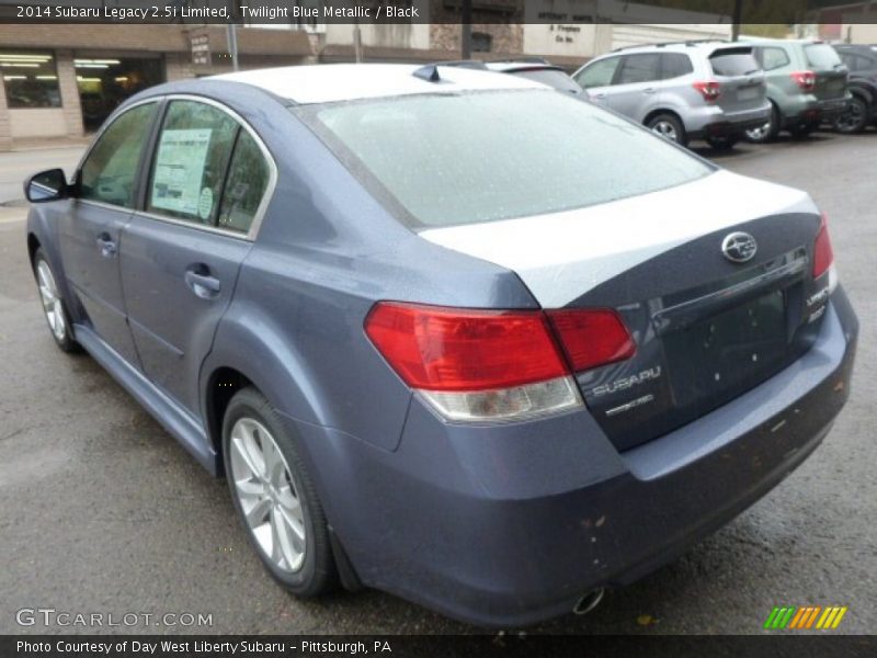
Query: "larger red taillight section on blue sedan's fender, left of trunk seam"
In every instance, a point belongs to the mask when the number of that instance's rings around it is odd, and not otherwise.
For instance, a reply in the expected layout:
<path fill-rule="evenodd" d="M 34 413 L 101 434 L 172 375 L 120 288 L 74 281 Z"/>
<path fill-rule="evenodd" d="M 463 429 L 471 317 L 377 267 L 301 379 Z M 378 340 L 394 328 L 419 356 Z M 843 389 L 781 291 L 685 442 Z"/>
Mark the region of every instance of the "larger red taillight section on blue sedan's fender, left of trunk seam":
<path fill-rule="evenodd" d="M 566 364 L 540 311 L 377 304 L 365 332 L 421 390 L 485 390 L 562 377 Z"/>

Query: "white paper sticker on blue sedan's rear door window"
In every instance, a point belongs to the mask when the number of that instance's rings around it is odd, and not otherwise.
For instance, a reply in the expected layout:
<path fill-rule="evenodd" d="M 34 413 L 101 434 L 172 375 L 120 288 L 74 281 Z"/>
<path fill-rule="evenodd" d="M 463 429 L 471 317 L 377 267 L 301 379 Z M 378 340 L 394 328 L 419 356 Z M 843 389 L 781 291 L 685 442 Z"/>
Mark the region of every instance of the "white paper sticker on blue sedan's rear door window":
<path fill-rule="evenodd" d="M 152 207 L 201 216 L 204 166 L 212 133 L 209 128 L 192 128 L 161 134 L 152 178 Z M 209 202 L 213 206 L 213 193 Z"/>

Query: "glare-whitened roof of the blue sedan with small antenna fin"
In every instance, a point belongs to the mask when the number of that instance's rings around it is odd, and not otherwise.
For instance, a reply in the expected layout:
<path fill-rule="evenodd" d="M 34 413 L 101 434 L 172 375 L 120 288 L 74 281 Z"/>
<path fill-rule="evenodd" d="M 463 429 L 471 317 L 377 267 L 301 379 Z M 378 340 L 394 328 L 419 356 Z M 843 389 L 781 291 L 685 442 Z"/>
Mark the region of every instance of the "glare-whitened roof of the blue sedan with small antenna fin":
<path fill-rule="evenodd" d="M 438 80 L 430 75 L 437 71 Z M 414 73 L 420 71 L 421 75 Z M 494 89 L 545 89 L 543 84 L 466 67 L 406 64 L 320 64 L 212 76 L 242 82 L 296 104 Z"/>

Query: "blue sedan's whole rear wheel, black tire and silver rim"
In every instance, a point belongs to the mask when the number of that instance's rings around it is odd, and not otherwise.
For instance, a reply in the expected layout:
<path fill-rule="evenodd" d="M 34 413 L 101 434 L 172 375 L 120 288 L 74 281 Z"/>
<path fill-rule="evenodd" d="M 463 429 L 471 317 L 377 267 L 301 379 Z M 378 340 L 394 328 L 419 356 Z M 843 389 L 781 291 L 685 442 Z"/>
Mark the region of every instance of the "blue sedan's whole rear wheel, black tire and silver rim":
<path fill-rule="evenodd" d="M 331 590 L 337 571 L 317 489 L 292 433 L 254 388 L 228 405 L 223 454 L 235 508 L 269 572 L 299 597 Z"/>

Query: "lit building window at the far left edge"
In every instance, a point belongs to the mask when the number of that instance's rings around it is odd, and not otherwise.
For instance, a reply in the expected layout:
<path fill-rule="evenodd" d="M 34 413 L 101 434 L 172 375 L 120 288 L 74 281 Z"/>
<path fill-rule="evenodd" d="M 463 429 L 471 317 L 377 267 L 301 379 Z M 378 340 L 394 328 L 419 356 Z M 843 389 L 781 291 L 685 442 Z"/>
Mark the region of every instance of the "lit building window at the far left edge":
<path fill-rule="evenodd" d="M 9 107 L 60 107 L 58 70 L 50 53 L 0 50 Z"/>

